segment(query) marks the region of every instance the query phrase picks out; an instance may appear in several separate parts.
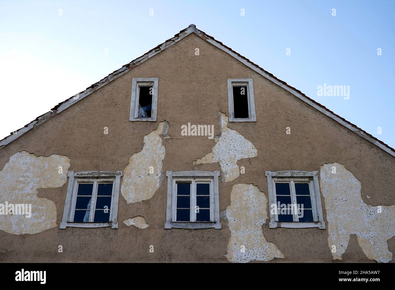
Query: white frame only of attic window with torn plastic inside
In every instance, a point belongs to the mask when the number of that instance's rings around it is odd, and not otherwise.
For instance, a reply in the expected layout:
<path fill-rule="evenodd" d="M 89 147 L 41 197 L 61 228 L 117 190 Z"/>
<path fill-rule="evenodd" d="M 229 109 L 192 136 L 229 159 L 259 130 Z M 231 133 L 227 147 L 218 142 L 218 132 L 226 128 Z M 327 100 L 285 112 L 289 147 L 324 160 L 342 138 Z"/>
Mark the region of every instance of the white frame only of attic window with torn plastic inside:
<path fill-rule="evenodd" d="M 152 111 L 150 118 L 138 118 L 139 86 L 152 85 Z M 132 97 L 130 99 L 129 121 L 156 121 L 158 107 L 158 78 L 134 78 L 132 80 Z"/>

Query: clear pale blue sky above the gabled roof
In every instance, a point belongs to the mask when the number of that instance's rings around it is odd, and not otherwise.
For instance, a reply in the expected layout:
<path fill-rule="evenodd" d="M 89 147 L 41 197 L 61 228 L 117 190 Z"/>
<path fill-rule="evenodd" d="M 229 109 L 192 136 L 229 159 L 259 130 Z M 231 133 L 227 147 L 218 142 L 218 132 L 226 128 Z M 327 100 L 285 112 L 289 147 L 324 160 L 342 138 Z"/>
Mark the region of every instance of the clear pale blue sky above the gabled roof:
<path fill-rule="evenodd" d="M 0 139 L 192 23 L 395 148 L 395 1 L 384 0 L 1 0 Z M 324 83 L 349 86 L 349 99 L 317 95 Z"/>

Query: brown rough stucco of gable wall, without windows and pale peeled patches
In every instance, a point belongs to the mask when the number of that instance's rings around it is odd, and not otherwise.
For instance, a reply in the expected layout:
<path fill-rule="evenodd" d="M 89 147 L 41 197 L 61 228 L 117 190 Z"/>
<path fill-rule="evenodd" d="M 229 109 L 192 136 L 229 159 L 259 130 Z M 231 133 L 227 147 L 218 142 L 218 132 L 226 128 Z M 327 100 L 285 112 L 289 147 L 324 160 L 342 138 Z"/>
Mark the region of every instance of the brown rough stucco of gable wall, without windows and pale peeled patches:
<path fill-rule="evenodd" d="M 199 48 L 199 56 L 195 48 Z M 157 122 L 129 122 L 134 77 L 159 78 Z M 27 151 L 36 156 L 67 156 L 68 170 L 73 171 L 124 170 L 130 157 L 143 150 L 144 136 L 166 120 L 171 138 L 162 138 L 166 148 L 162 172 L 221 170 L 219 163 L 193 165 L 193 161 L 212 152 L 216 143 L 204 136 L 181 136 L 181 125 L 214 125 L 214 135 L 220 134 L 218 111 L 229 116 L 227 79 L 236 78 L 254 80 L 257 122 L 228 123 L 228 127 L 252 142 L 257 156 L 237 161 L 245 167 L 245 174 L 220 182 L 220 211 L 231 204 L 234 184 L 254 184 L 268 200 L 265 170 L 320 172 L 321 166 L 335 162 L 359 180 L 365 203 L 395 204 L 394 157 L 193 34 L 2 148 L 0 168 L 13 154 Z M 108 127 L 108 135 L 103 134 L 103 127 Z M 286 127 L 291 127 L 290 135 Z M 117 230 L 60 230 L 55 226 L 21 235 L 0 230 L 0 261 L 228 262 L 225 255 L 231 232 L 224 215 L 221 230 L 164 229 L 166 187 L 167 183 L 162 182 L 151 198 L 141 202 L 128 204 L 119 196 L 118 220 L 141 216 L 149 224 L 147 228 L 120 222 Z M 38 197 L 55 203 L 57 225 L 62 219 L 66 189 L 67 183 L 38 189 Z M 324 198 L 322 207 L 327 223 Z M 328 230 L 269 229 L 268 223 L 263 223 L 262 231 L 265 239 L 284 254 L 284 258 L 270 262 L 333 261 Z M 59 245 L 63 253 L 58 253 Z M 154 246 L 153 253 L 150 245 Z M 388 240 L 388 249 L 395 251 L 395 238 Z M 374 262 L 365 256 L 353 234 L 342 258 L 344 262 Z"/>

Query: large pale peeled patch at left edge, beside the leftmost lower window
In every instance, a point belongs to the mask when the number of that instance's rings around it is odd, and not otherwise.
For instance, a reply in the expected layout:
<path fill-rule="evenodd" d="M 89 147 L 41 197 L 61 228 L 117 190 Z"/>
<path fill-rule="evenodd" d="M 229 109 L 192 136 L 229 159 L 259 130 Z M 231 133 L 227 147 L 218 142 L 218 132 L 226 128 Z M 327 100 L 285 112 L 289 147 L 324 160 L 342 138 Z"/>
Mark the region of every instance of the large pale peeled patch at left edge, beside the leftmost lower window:
<path fill-rule="evenodd" d="M 12 155 L 0 171 L 0 203 L 31 204 L 32 215 L 0 215 L 0 230 L 20 235 L 36 234 L 55 227 L 55 203 L 38 197 L 37 189 L 64 185 L 69 167 L 67 156 L 37 157 L 26 151 Z"/>

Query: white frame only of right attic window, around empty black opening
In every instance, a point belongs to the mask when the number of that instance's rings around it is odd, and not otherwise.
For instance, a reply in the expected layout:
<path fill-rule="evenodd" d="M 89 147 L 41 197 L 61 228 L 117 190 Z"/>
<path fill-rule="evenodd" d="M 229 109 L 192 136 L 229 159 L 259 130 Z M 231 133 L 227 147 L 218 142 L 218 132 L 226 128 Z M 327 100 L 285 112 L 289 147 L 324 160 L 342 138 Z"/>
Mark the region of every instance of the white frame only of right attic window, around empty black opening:
<path fill-rule="evenodd" d="M 248 118 L 235 118 L 233 110 L 233 86 L 247 86 Z M 252 79 L 228 79 L 229 122 L 256 122 L 254 85 Z"/>

